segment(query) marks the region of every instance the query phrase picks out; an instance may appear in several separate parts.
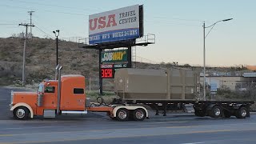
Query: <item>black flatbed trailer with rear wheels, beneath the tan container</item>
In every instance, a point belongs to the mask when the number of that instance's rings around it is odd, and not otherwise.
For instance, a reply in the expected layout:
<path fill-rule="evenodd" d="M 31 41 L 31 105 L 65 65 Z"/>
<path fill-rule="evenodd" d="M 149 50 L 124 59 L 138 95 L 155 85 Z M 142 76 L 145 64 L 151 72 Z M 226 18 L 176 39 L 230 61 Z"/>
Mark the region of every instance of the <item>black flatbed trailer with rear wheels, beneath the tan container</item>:
<path fill-rule="evenodd" d="M 123 100 L 127 104 L 144 104 L 156 110 L 156 115 L 159 110 L 163 110 L 163 115 L 166 116 L 167 110 L 183 110 L 186 105 L 192 104 L 194 107 L 194 114 L 198 117 L 210 116 L 212 118 L 236 118 L 250 117 L 250 106 L 254 101 L 217 101 L 217 100 Z"/>

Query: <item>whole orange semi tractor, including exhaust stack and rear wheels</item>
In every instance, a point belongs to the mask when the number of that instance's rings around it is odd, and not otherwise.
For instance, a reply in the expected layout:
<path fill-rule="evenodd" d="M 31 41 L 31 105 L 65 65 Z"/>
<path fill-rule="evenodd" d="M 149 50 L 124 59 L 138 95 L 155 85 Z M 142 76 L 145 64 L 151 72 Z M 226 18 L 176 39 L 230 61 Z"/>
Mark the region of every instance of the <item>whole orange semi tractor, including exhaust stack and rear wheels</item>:
<path fill-rule="evenodd" d="M 130 118 L 143 121 L 148 118 L 148 111 L 143 106 L 91 105 L 85 94 L 85 77 L 78 74 L 61 76 L 61 69 L 62 66 L 57 66 L 55 80 L 41 82 L 38 92 L 11 92 L 10 110 L 14 118 L 55 118 L 57 115 L 84 115 L 88 111 L 106 112 L 118 121 Z"/>

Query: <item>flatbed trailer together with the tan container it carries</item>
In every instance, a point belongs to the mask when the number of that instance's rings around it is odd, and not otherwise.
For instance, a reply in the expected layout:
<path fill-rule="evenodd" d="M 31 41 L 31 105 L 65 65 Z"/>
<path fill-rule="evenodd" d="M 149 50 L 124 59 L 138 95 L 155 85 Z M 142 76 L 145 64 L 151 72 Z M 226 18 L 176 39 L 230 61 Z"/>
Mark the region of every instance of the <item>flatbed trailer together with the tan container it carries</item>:
<path fill-rule="evenodd" d="M 156 110 L 184 110 L 194 107 L 194 114 L 212 118 L 250 116 L 245 100 L 205 100 L 200 93 L 200 76 L 196 70 L 118 69 L 114 75 L 115 93 L 127 104 L 145 104 Z"/>

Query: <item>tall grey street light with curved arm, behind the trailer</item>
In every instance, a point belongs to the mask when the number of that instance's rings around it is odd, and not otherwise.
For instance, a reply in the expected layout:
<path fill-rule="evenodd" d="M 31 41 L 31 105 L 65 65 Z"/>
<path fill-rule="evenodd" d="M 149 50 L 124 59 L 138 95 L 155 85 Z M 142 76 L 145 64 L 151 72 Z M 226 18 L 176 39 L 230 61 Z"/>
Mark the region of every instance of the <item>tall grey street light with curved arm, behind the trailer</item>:
<path fill-rule="evenodd" d="M 221 21 L 218 22 L 226 22 L 226 21 L 230 21 L 233 18 L 228 18 L 228 19 L 223 19 Z M 206 22 L 203 22 L 203 99 L 206 101 L 206 37 L 208 34 L 210 34 L 210 30 L 212 30 L 214 28 L 214 26 L 216 25 L 215 22 L 214 24 L 210 25 L 210 26 L 206 26 Z M 206 28 L 210 28 L 209 32 L 206 34 Z"/>

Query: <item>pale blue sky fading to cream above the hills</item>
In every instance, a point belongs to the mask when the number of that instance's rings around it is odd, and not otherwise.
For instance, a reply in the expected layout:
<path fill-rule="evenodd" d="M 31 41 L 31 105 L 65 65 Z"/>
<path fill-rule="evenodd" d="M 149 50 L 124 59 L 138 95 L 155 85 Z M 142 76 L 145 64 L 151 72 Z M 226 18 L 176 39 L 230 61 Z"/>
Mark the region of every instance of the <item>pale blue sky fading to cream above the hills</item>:
<path fill-rule="evenodd" d="M 40 38 L 88 38 L 89 15 L 125 6 L 144 6 L 144 34 L 155 34 L 150 46 L 137 46 L 138 61 L 203 65 L 203 22 L 218 22 L 206 37 L 206 66 L 256 65 L 256 1 L 254 0 L 1 0 L 0 38 L 25 32 L 30 22 Z M 206 34 L 210 28 L 206 29 Z M 139 58 L 142 58 L 141 60 Z"/>

